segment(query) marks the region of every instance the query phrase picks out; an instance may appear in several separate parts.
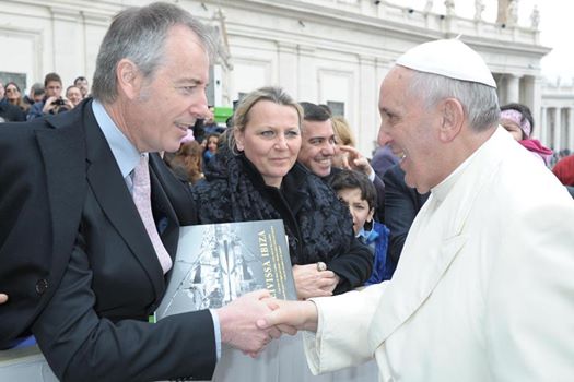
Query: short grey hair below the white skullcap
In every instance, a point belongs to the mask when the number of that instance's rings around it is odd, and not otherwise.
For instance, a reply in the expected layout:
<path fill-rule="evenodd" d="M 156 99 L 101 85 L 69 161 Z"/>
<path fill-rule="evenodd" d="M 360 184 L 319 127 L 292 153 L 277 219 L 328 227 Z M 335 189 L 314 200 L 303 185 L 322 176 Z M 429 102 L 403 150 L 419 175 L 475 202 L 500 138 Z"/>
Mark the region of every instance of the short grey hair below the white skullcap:
<path fill-rule="evenodd" d="M 476 132 L 488 130 L 499 121 L 501 109 L 494 87 L 433 73 L 413 73 L 409 93 L 421 97 L 426 108 L 442 99 L 456 98 L 462 104 L 469 126 Z"/>

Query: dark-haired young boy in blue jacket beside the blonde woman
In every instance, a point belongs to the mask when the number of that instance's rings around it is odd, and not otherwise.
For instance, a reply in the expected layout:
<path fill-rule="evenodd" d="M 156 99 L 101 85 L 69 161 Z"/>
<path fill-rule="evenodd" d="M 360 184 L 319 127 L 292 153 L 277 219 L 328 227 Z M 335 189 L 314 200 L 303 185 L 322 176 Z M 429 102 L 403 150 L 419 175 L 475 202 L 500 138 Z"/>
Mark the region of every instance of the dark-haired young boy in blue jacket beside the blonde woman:
<path fill-rule="evenodd" d="M 339 199 L 349 205 L 355 236 L 374 251 L 373 274 L 365 285 L 390 279 L 396 265 L 387 259 L 389 230 L 373 218 L 377 202 L 375 187 L 364 174 L 353 170 L 333 174 L 330 186 Z"/>

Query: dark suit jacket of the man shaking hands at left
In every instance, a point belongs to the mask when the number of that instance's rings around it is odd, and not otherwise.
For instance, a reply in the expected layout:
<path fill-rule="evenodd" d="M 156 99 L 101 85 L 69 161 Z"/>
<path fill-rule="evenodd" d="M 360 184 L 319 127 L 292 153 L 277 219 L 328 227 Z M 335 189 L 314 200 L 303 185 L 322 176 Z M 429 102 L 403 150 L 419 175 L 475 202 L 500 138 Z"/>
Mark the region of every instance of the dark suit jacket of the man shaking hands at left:
<path fill-rule="evenodd" d="M 56 375 L 210 379 L 208 311 L 149 324 L 165 278 L 91 102 L 0 128 L 0 343 L 32 329 Z M 196 223 L 189 189 L 150 155 L 152 208 L 175 254 Z"/>

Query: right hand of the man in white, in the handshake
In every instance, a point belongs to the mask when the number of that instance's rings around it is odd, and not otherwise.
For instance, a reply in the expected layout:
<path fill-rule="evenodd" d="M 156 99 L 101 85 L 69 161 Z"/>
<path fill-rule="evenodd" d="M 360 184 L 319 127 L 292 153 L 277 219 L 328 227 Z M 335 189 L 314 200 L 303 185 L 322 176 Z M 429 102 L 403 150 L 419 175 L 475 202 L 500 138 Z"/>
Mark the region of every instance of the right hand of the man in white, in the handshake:
<path fill-rule="evenodd" d="M 318 311 L 313 301 L 276 300 L 278 309 L 257 320 L 263 330 L 278 327 L 283 333 L 294 335 L 297 331 L 317 331 Z"/>

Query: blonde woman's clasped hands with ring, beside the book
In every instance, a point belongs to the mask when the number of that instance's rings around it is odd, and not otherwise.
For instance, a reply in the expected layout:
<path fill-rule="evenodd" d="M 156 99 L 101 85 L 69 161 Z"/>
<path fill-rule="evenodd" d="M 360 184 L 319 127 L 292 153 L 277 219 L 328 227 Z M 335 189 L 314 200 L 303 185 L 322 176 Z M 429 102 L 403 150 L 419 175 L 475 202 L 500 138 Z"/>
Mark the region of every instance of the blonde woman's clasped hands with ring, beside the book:
<path fill-rule="evenodd" d="M 339 276 L 331 271 L 319 271 L 317 264 L 293 265 L 293 279 L 297 298 L 332 296 Z"/>

